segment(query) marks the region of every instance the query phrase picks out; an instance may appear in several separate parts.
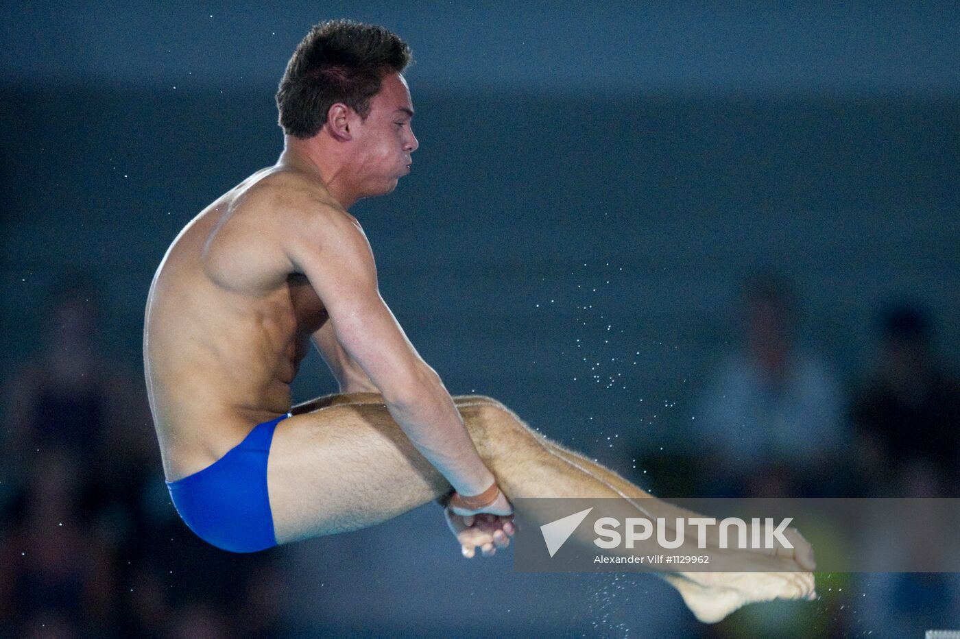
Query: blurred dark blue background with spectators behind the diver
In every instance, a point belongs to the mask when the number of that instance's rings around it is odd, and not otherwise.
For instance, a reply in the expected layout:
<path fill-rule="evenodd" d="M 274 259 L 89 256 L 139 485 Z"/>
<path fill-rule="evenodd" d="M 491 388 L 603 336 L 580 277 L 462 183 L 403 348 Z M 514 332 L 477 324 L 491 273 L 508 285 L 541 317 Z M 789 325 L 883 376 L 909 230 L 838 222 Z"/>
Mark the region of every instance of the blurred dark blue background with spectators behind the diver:
<path fill-rule="evenodd" d="M 222 553 L 169 502 L 140 353 L 165 249 L 276 160 L 286 60 L 350 17 L 418 60 L 414 171 L 352 212 L 451 392 L 661 496 L 960 496 L 954 4 L 2 12 L 0 636 L 957 626 L 956 576 L 821 574 L 702 627 L 659 580 L 467 561 L 436 507 Z M 295 390 L 336 388 L 311 355 Z"/>

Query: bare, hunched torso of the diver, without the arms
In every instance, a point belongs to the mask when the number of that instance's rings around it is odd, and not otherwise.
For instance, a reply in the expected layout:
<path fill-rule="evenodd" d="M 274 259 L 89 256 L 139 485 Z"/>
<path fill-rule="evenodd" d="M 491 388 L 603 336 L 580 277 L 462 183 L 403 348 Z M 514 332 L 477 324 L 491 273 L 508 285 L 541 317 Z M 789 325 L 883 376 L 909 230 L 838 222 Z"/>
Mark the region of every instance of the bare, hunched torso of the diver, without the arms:
<path fill-rule="evenodd" d="M 319 181 L 264 169 L 186 225 L 157 269 L 143 351 L 170 481 L 220 459 L 253 425 L 290 409 L 290 383 L 327 319 L 281 248 L 291 198 L 340 209 Z"/>

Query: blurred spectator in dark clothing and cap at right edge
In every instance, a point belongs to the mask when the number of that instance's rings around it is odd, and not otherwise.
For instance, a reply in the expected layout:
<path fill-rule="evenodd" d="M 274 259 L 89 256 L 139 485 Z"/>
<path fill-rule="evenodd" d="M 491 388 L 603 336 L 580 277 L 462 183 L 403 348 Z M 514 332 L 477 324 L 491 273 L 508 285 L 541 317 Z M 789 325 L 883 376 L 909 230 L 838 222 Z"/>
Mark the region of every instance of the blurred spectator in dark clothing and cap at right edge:
<path fill-rule="evenodd" d="M 876 371 L 852 404 L 863 491 L 897 496 L 896 485 L 928 467 L 937 496 L 960 496 L 960 383 L 938 362 L 923 309 L 898 304 L 879 321 Z"/>

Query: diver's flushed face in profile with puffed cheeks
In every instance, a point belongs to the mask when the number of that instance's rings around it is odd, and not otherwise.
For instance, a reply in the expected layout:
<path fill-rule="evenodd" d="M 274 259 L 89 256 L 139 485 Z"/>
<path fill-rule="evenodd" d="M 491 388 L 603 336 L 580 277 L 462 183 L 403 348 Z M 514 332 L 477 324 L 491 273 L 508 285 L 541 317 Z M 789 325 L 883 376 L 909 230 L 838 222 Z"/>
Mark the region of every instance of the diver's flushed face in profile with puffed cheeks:
<path fill-rule="evenodd" d="M 390 193 L 397 180 L 410 173 L 410 155 L 420 146 L 411 128 L 413 115 L 410 89 L 403 76 L 385 76 L 380 91 L 371 99 L 370 113 L 354 129 L 364 195 Z"/>

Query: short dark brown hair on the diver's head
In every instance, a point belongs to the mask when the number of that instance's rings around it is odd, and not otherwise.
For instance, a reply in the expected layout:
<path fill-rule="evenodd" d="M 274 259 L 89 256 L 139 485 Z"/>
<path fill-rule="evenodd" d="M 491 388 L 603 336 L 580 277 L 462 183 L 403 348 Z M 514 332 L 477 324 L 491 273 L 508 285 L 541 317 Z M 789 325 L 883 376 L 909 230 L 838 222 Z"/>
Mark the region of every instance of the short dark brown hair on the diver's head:
<path fill-rule="evenodd" d="M 410 60 L 410 47 L 383 27 L 350 20 L 321 22 L 287 62 L 276 91 L 280 128 L 300 139 L 312 137 L 338 102 L 366 118 L 383 77 L 402 72 Z"/>

